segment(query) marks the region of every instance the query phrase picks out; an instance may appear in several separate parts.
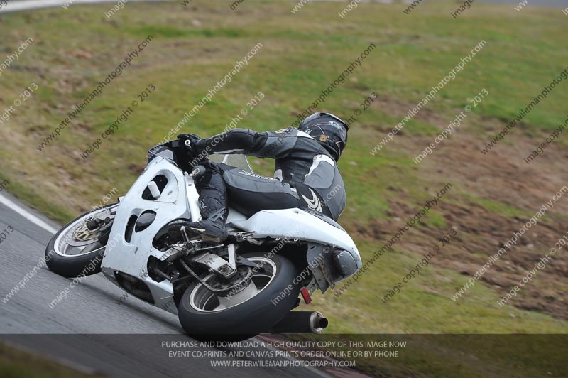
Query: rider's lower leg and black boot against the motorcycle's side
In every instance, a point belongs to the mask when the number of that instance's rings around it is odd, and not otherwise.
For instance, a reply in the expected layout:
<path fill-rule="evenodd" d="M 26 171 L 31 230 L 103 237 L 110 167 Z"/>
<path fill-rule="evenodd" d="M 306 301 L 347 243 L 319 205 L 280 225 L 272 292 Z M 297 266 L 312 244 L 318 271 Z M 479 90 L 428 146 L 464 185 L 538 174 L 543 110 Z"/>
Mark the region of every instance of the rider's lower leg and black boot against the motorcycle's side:
<path fill-rule="evenodd" d="M 202 220 L 189 222 L 174 220 L 168 225 L 168 234 L 172 242 L 189 241 L 201 238 L 205 242 L 220 243 L 227 237 L 226 187 L 219 168 L 208 164 L 196 166 L 192 171 L 195 188 L 200 195 L 199 205 Z"/>

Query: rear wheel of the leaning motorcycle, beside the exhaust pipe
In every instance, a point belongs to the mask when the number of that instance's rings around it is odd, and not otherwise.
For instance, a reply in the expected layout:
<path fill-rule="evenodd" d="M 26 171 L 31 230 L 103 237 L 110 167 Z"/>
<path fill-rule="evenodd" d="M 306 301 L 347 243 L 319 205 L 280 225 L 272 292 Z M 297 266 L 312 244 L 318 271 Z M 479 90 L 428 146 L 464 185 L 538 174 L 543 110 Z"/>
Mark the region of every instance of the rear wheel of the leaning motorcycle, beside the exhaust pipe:
<path fill-rule="evenodd" d="M 200 282 L 183 294 L 178 315 L 185 332 L 199 340 L 244 340 L 282 320 L 295 306 L 300 291 L 293 284 L 295 266 L 285 257 L 251 253 L 242 255 L 260 266 L 253 268 L 251 282 L 232 296 L 219 296 Z M 204 277 L 207 284 L 215 274 Z"/>

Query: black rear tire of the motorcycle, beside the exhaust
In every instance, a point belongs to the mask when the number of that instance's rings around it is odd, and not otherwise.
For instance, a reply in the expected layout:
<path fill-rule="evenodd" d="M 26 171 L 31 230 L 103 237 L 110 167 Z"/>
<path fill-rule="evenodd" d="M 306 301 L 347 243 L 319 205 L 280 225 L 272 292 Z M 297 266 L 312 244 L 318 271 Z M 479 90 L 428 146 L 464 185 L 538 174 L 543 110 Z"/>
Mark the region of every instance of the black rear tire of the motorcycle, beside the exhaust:
<path fill-rule="evenodd" d="M 243 257 L 252 261 L 255 257 L 268 258 L 266 253 L 244 254 Z M 178 306 L 178 316 L 185 332 L 197 340 L 245 340 L 266 332 L 288 315 L 300 292 L 300 286 L 293 284 L 297 271 L 285 257 L 274 255 L 269 259 L 276 272 L 271 281 L 255 296 L 229 308 L 213 311 L 197 309 L 192 293 L 195 297 L 195 293 L 199 293 L 196 290 L 207 289 L 199 282 L 190 284 Z M 289 294 L 283 296 L 285 289 L 289 290 Z M 280 298 L 278 301 L 277 297 Z"/>

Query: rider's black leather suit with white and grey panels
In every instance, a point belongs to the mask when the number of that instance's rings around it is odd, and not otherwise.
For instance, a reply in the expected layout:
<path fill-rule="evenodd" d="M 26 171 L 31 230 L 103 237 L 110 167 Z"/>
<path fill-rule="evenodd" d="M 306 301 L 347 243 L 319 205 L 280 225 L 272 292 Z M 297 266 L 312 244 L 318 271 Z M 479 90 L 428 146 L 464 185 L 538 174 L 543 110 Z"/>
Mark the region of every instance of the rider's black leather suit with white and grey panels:
<path fill-rule="evenodd" d="M 225 202 L 224 196 L 228 195 L 231 206 L 246 216 L 260 210 L 300 207 L 337 220 L 345 207 L 344 183 L 334 158 L 318 141 L 294 127 L 260 133 L 232 129 L 201 139 L 198 146 L 205 153 L 275 159 L 274 178 L 226 164 L 204 164 L 209 173 L 196 182 L 200 193 L 204 189 L 209 189 L 209 194 L 214 191 L 221 196 L 219 202 Z"/>

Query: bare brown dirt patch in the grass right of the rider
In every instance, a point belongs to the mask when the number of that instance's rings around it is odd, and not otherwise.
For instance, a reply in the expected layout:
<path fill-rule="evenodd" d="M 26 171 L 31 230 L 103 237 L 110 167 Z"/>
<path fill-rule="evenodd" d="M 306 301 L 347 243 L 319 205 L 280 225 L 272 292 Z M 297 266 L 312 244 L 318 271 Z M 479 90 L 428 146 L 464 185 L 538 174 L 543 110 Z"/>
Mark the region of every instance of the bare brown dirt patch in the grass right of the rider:
<path fill-rule="evenodd" d="M 376 106 L 393 117 L 404 117 L 414 105 L 383 97 Z M 428 109 L 422 109 L 415 119 L 437 126 L 440 131 L 450 121 Z M 483 129 L 484 135 L 475 134 L 472 125 L 476 125 L 477 130 Z M 565 148 L 551 144 L 544 155 L 527 164 L 523 158 L 535 148 L 540 136 L 536 139 L 525 136 L 522 127 L 510 132 L 506 140 L 493 147 L 493 150 L 485 155 L 481 153 L 481 148 L 503 126 L 503 122 L 496 119 L 484 119 L 481 126 L 481 119 L 469 114 L 459 129 L 454 131 L 452 138 L 437 145 L 433 153 L 418 166 L 418 175 L 427 182 L 449 182 L 455 186 L 456 190 L 441 200 L 435 211 L 442 214 L 447 228 L 457 229 L 458 236 L 456 242 L 440 250 L 434 264 L 464 274 L 464 284 L 518 232 L 542 204 L 552 200 L 553 195 L 568 185 L 565 180 L 568 178 L 568 166 L 565 164 L 568 153 Z M 376 126 L 373 129 L 382 138 L 391 130 L 391 126 Z M 544 139 L 545 134 L 542 136 Z M 388 148 L 417 156 L 433 141 L 433 137 L 409 136 L 403 132 L 389 142 L 391 145 Z M 393 188 L 398 189 L 401 188 Z M 484 206 L 472 202 L 469 196 L 503 202 L 521 211 L 515 216 L 489 212 Z M 354 231 L 359 237 L 386 242 L 416 211 L 417 208 L 412 209 L 403 202 L 391 201 L 388 213 L 391 220 L 374 220 L 369 227 Z M 430 225 L 427 219 L 422 226 L 410 229 L 398 246 L 423 254 L 444 233 L 439 227 Z M 481 281 L 491 285 L 499 296 L 505 296 L 528 271 L 535 268 L 535 264 L 545 257 L 550 248 L 555 247 L 555 243 L 567 231 L 568 193 L 555 202 L 552 210 L 532 226 L 518 244 L 488 269 Z M 557 253 L 509 304 L 568 319 L 567 276 L 568 258 L 565 254 Z"/>

